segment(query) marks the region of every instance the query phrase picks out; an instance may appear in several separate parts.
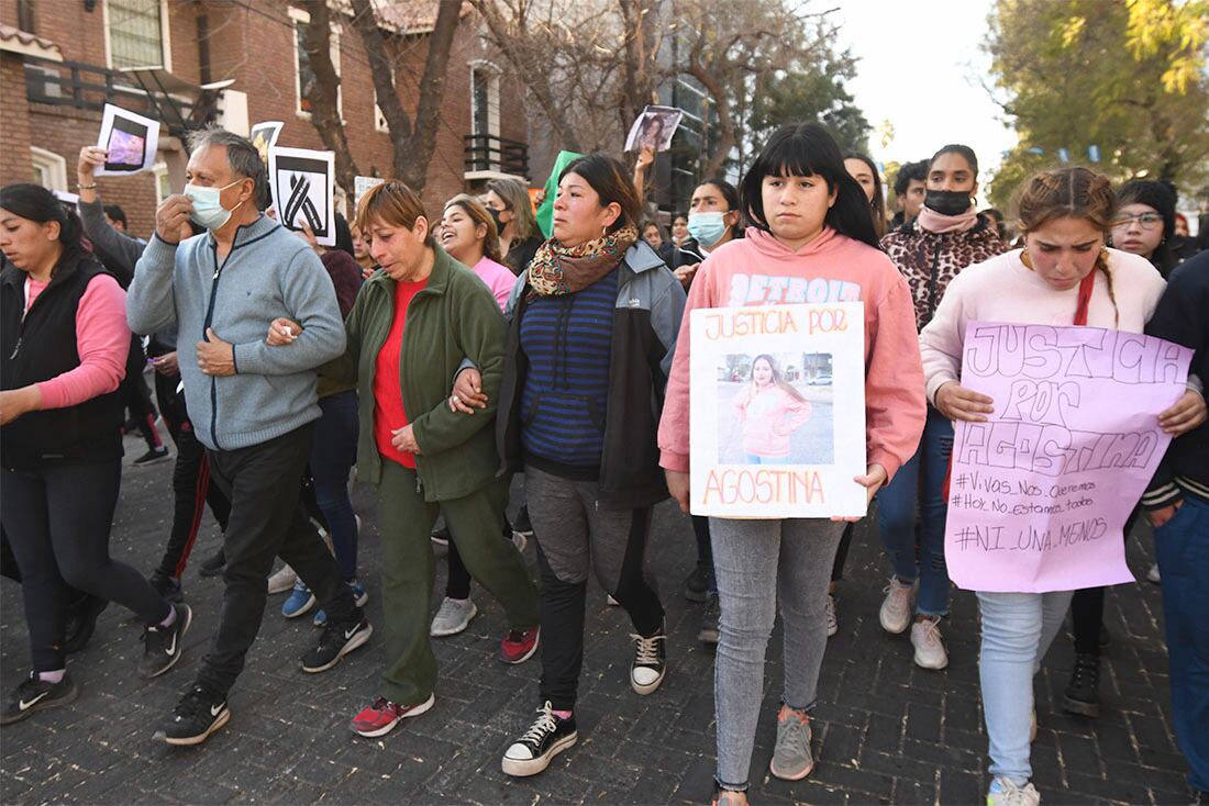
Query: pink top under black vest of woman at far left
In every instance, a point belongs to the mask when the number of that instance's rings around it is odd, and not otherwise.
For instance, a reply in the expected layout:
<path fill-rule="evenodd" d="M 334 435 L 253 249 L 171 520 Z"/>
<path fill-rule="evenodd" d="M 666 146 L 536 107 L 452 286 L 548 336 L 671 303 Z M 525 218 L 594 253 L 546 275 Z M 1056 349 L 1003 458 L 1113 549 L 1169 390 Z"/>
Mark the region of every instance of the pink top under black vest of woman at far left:
<path fill-rule="evenodd" d="M 25 311 L 48 283 L 25 278 Z M 76 306 L 76 352 L 80 366 L 37 384 L 42 408 L 66 408 L 117 388 L 126 377 L 131 329 L 126 324 L 126 291 L 109 274 L 88 280 Z"/>

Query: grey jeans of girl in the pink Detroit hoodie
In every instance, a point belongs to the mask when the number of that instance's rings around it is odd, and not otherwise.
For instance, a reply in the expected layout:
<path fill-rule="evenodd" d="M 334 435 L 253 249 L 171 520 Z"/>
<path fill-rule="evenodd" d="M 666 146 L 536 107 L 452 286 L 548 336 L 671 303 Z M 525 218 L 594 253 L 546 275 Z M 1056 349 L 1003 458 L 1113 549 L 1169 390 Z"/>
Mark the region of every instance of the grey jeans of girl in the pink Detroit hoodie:
<path fill-rule="evenodd" d="M 780 602 L 791 708 L 815 704 L 827 649 L 827 586 L 844 523 L 820 518 L 710 518 L 722 608 L 713 665 L 718 783 L 746 789 L 764 690 L 764 654 Z"/>

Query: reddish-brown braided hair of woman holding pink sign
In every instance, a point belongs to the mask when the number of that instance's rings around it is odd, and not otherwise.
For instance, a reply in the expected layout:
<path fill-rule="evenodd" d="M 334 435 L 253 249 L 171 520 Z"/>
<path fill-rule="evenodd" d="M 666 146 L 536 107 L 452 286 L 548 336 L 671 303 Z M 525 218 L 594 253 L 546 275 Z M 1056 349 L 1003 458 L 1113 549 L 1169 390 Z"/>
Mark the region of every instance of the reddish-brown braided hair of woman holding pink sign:
<path fill-rule="evenodd" d="M 1083 219 L 1104 233 L 1107 243 L 1116 211 L 1117 197 L 1107 178 L 1080 167 L 1058 168 L 1036 174 L 1017 199 L 1017 219 L 1023 234 L 1058 219 Z M 1112 288 L 1107 249 L 1100 249 L 1093 271 L 1104 272 L 1113 318 L 1120 324 L 1121 311 L 1117 308 L 1117 296 Z"/>

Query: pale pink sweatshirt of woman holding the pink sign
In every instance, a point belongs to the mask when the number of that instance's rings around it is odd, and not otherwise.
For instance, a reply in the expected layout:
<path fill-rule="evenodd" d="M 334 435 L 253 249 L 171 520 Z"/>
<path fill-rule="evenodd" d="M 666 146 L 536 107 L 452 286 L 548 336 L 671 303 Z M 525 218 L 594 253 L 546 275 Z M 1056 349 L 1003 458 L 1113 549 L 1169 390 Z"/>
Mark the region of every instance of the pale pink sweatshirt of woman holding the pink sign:
<path fill-rule="evenodd" d="M 1072 325 L 1078 305 L 1078 286 L 1055 291 L 1020 260 L 1014 249 L 964 269 L 949 283 L 932 321 L 919 335 L 919 350 L 927 378 L 927 399 L 936 402 L 936 390 L 949 381 L 961 379 L 962 344 L 966 324 L 1007 321 L 1029 325 Z M 1109 250 L 1112 294 L 1104 272 L 1097 271 L 1092 301 L 1087 308 L 1091 327 L 1107 327 L 1140 334 L 1155 313 L 1167 283 L 1150 261 L 1117 249 Z M 1120 318 L 1118 318 L 1120 317 Z"/>

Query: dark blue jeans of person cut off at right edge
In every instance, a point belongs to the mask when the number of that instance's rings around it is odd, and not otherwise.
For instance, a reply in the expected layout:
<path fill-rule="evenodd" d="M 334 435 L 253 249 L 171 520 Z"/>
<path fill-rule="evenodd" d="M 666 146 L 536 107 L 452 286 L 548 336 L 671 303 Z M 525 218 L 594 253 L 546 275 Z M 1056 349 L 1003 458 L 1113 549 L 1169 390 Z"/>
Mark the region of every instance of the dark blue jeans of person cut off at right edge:
<path fill-rule="evenodd" d="M 1175 738 L 1191 770 L 1188 783 L 1209 791 L 1209 501 L 1185 495 L 1184 506 L 1155 529 L 1155 550 Z"/>

